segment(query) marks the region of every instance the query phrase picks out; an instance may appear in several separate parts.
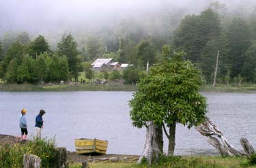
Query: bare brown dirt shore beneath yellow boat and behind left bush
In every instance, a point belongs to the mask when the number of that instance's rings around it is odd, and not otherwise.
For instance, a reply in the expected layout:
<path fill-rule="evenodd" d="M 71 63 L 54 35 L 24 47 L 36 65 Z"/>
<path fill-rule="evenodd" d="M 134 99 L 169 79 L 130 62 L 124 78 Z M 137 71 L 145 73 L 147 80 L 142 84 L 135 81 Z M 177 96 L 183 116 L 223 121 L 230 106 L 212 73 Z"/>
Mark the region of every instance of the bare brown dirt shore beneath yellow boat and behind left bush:
<path fill-rule="evenodd" d="M 21 143 L 19 137 L 0 134 L 0 144 L 18 144 L 18 143 Z M 76 152 L 68 151 L 68 161 L 73 163 L 82 163 L 84 161 L 135 162 L 135 161 L 138 161 L 138 159 L 139 159 L 138 155 L 128 155 L 128 154 L 85 155 L 85 154 L 76 154 Z"/>

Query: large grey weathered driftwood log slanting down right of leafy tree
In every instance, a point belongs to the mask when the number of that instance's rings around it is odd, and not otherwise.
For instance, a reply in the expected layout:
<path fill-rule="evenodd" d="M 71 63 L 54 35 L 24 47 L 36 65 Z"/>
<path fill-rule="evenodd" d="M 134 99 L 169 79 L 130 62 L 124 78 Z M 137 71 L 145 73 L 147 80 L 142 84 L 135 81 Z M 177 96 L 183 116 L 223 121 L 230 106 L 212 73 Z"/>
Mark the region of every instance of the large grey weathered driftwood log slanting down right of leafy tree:
<path fill-rule="evenodd" d="M 209 137 L 208 143 L 214 146 L 221 156 L 251 156 L 251 154 L 255 153 L 253 146 L 245 138 L 240 139 L 240 143 L 244 148 L 244 151 L 234 148 L 231 144 L 229 144 L 229 141 L 227 141 L 216 124 L 214 124 L 214 122 L 212 122 L 209 118 L 206 118 L 205 122 L 197 126 L 196 129 L 199 131 L 199 133 L 201 133 L 201 135 Z M 218 139 L 221 139 L 221 141 Z"/>

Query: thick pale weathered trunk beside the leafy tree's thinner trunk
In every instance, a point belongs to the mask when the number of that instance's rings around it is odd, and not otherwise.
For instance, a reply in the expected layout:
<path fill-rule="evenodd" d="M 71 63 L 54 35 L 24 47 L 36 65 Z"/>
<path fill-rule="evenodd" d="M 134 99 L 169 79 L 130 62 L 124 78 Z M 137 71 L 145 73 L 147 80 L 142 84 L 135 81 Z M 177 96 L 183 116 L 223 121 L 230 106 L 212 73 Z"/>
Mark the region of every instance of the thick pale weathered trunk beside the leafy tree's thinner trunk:
<path fill-rule="evenodd" d="M 154 124 L 152 121 L 148 121 L 146 129 L 145 146 L 138 163 L 141 163 L 144 157 L 147 159 L 147 162 L 149 164 L 151 164 L 154 161 L 158 161 L 158 158 L 160 154 L 162 154 L 162 151 L 162 126 L 156 126 L 156 124 Z"/>

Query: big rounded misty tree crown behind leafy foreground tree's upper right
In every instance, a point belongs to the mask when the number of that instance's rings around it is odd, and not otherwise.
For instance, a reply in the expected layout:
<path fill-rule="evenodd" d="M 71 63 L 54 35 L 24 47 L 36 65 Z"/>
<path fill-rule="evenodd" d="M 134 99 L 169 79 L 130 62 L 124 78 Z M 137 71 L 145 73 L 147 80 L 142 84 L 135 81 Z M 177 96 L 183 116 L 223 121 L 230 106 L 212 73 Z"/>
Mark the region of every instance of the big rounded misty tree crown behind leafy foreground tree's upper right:
<path fill-rule="evenodd" d="M 221 22 L 211 9 L 201 12 L 199 16 L 188 15 L 175 30 L 173 44 L 178 50 L 186 52 L 186 58 L 199 63 L 201 52 L 213 38 L 221 35 Z"/>

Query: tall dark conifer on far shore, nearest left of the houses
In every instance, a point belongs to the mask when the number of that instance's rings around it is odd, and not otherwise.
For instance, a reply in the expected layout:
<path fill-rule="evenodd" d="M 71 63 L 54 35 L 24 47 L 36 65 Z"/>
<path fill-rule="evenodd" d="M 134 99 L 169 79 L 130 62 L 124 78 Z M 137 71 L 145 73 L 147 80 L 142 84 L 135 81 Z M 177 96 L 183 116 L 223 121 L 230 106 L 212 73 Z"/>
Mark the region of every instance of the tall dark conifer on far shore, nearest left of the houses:
<path fill-rule="evenodd" d="M 70 33 L 68 35 L 66 35 L 66 33 L 63 34 L 57 47 L 59 55 L 67 56 L 70 75 L 77 81 L 79 77 L 79 60 L 77 58 L 79 50 L 77 50 L 77 44 L 74 37 L 72 37 Z"/>

